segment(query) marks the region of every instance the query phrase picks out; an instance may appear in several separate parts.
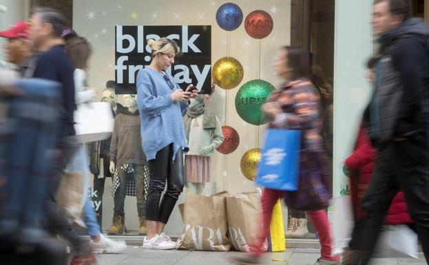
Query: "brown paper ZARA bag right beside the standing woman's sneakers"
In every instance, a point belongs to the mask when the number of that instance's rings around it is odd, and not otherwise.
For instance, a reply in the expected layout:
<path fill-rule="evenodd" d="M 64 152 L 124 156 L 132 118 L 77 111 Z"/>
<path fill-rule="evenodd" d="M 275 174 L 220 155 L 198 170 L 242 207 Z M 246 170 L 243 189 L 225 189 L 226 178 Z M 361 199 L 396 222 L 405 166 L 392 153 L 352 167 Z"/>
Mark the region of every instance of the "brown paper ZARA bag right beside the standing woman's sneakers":
<path fill-rule="evenodd" d="M 184 209 L 184 233 L 177 248 L 196 251 L 229 251 L 227 237 L 227 193 L 212 196 L 187 194 Z"/>

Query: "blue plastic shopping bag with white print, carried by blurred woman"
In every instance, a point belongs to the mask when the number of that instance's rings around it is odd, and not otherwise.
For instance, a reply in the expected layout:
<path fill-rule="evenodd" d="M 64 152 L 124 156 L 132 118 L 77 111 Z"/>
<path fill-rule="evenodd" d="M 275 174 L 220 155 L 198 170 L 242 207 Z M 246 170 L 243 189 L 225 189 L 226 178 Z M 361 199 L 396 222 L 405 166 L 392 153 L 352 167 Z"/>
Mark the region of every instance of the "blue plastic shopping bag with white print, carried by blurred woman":
<path fill-rule="evenodd" d="M 296 191 L 300 171 L 300 144 L 300 131 L 266 131 L 256 184 L 270 189 Z"/>

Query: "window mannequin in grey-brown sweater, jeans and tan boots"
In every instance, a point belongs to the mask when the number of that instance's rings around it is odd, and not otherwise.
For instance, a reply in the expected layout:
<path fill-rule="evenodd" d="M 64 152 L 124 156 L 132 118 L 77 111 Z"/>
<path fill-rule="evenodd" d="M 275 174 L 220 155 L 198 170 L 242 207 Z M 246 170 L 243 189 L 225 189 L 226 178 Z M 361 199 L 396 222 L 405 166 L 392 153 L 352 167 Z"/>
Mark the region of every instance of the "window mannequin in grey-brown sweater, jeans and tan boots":
<path fill-rule="evenodd" d="M 129 176 L 136 183 L 137 211 L 140 222 L 139 233 L 146 233 L 146 194 L 149 168 L 143 152 L 140 136 L 140 116 L 136 95 L 124 95 L 125 108 L 117 109 L 114 131 L 110 144 L 109 171 L 114 174 L 114 217 L 109 234 L 125 232 L 124 203 Z"/>

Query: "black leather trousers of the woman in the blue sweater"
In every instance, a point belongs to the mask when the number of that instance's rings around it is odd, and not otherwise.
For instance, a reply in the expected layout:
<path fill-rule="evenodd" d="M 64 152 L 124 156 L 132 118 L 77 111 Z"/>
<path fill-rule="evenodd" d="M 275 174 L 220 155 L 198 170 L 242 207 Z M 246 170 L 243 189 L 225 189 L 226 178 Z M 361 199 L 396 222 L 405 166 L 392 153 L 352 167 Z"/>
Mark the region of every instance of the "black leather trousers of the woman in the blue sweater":
<path fill-rule="evenodd" d="M 153 160 L 149 160 L 149 189 L 146 200 L 146 220 L 158 221 L 167 224 L 171 212 L 176 205 L 180 193 L 183 191 L 185 182 L 183 171 L 183 152 L 179 149 L 176 158 L 173 144 L 167 145 L 156 153 Z M 160 202 L 161 194 L 167 191 Z"/>

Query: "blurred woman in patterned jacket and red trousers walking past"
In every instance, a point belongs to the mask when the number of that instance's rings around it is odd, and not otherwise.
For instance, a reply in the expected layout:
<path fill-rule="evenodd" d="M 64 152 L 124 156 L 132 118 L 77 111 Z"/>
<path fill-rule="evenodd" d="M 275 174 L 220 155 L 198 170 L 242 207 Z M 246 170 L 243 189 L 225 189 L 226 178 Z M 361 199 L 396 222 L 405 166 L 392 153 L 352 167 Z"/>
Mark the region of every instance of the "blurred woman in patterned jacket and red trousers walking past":
<path fill-rule="evenodd" d="M 282 47 L 275 61 L 275 72 L 284 83 L 280 89 L 271 94 L 268 102 L 262 106 L 266 117 L 271 121 L 269 127 L 277 129 L 294 129 L 302 132 L 302 146 L 300 150 L 300 178 L 308 180 L 309 193 L 319 194 L 317 197 L 328 200 L 328 189 L 322 183 L 324 162 L 321 161 L 324 153 L 322 147 L 322 113 L 320 106 L 320 92 L 308 79 L 308 55 L 299 47 Z M 311 162 L 308 162 L 311 161 Z M 302 187 L 300 187 L 301 189 Z M 308 189 L 308 188 L 306 188 Z M 251 246 L 251 255 L 244 259 L 236 259 L 238 264 L 258 264 L 266 237 L 269 235 L 269 226 L 273 206 L 278 199 L 286 196 L 286 204 L 295 208 L 297 193 L 275 189 L 264 189 L 262 192 L 262 232 L 260 241 Z M 302 202 L 304 203 L 304 202 Z M 331 255 L 333 242 L 331 241 L 331 225 L 324 206 L 319 210 L 307 211 L 320 236 L 321 257 L 314 265 L 339 264 L 339 257 Z"/>

